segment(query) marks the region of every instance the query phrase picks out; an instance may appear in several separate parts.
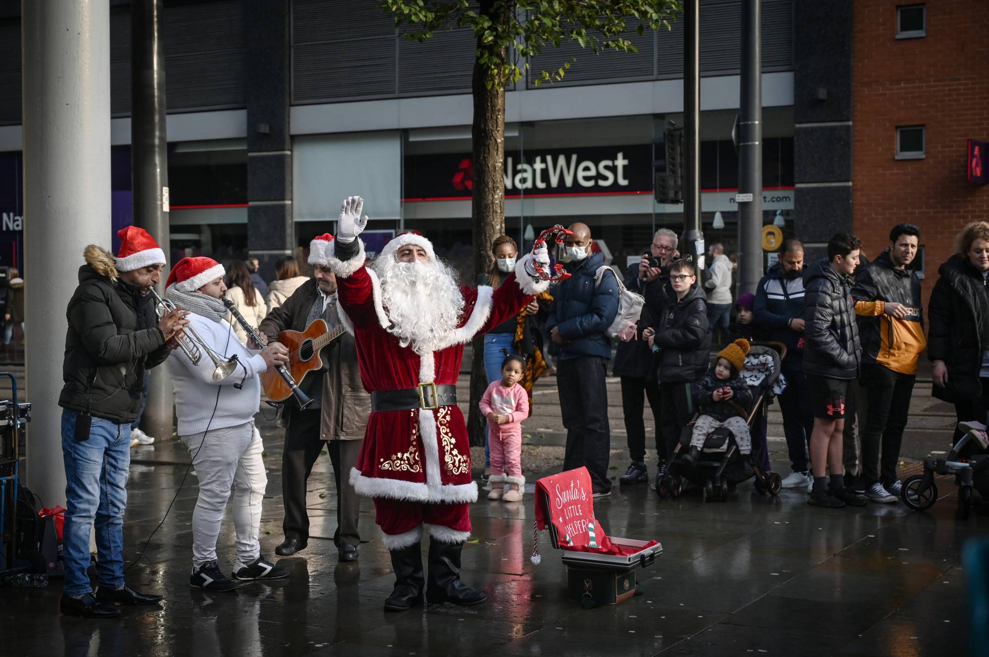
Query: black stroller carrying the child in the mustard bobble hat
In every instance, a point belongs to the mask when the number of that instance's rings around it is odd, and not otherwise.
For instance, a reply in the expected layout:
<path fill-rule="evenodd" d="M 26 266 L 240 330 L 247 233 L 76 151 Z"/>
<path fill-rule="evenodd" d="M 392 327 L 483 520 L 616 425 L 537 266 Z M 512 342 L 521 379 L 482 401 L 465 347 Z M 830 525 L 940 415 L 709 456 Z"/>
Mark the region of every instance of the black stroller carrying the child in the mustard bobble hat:
<path fill-rule="evenodd" d="M 778 352 L 776 350 L 779 350 Z M 766 345 L 753 344 L 746 355 L 745 368 L 741 375 L 752 390 L 752 407 L 742 408 L 729 401 L 746 419 L 750 428 L 761 408 L 765 408 L 772 398 L 786 387 L 786 379 L 780 372 L 780 364 L 786 356 L 786 345 L 770 342 Z M 776 472 L 764 472 L 759 464 L 756 452 L 742 454 L 735 442 L 735 437 L 727 428 L 712 431 L 704 441 L 704 449 L 700 459 L 690 465 L 683 460 L 683 452 L 690 449 L 690 438 L 693 434 L 693 419 L 680 433 L 679 443 L 674 448 L 664 476 L 656 484 L 656 492 L 660 497 L 679 497 L 683 490 L 684 480 L 701 486 L 703 499 L 728 500 L 728 492 L 735 484 L 756 475 L 756 490 L 760 493 L 777 495 L 782 484 L 782 478 Z M 753 449 L 766 449 L 763 446 Z"/>

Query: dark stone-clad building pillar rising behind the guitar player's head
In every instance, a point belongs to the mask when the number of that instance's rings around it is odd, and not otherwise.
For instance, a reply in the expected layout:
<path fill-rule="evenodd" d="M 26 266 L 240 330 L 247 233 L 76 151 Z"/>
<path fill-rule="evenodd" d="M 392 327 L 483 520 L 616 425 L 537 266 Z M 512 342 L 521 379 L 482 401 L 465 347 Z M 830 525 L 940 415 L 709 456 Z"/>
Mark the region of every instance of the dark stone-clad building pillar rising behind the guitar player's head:
<path fill-rule="evenodd" d="M 292 137 L 289 133 L 289 0 L 246 0 L 247 250 L 270 281 L 292 255 Z"/>

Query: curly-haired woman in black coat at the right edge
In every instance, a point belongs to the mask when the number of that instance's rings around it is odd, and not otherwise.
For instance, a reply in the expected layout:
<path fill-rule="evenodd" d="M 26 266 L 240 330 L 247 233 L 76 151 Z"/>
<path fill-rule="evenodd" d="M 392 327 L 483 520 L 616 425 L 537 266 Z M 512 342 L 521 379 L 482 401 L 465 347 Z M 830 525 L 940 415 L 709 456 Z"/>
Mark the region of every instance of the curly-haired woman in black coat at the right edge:
<path fill-rule="evenodd" d="M 955 253 L 938 270 L 928 316 L 935 397 L 954 404 L 958 422 L 986 422 L 989 410 L 989 222 L 961 229 Z M 955 429 L 953 443 L 963 432 Z"/>

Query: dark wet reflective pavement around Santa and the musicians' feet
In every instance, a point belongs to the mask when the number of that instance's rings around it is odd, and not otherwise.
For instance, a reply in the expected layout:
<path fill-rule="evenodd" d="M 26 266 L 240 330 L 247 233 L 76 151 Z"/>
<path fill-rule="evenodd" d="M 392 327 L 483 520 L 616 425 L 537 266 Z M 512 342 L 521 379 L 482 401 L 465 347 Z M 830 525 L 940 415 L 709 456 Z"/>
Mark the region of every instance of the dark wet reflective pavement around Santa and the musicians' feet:
<path fill-rule="evenodd" d="M 264 426 L 269 481 L 261 544 L 274 557 L 282 539 L 281 431 Z M 808 507 L 799 491 L 769 498 L 749 484 L 726 503 L 707 504 L 696 495 L 660 500 L 644 484 L 615 486 L 610 497 L 595 500 L 604 530 L 657 538 L 664 553 L 638 571 L 645 595 L 583 610 L 567 601 L 566 569 L 545 533 L 539 537 L 542 563 L 528 559 L 532 495 L 522 504 L 488 502 L 482 495 L 471 509 L 474 537 L 463 552 L 463 576 L 483 587 L 489 602 L 386 615 L 382 603 L 394 580 L 369 502 L 362 506 L 366 542 L 359 561 L 337 562 L 328 457 L 317 461 L 309 483 L 309 547 L 278 559 L 291 577 L 213 594 L 188 584 L 193 472 L 135 561 L 175 496 L 188 453 L 164 442 L 133 455 L 128 581 L 163 594 L 164 602 L 97 621 L 59 616 L 57 580 L 46 589 L 0 589 L 3 654 L 965 654 L 960 554 L 967 538 L 989 529 L 989 517 L 979 509 L 967 521 L 956 517 L 949 481 L 941 485 L 944 499 L 922 514 L 902 504 L 822 510 Z M 533 481 L 535 473 L 527 474 Z M 234 551 L 228 515 L 219 551 L 222 567 L 229 568 Z"/>

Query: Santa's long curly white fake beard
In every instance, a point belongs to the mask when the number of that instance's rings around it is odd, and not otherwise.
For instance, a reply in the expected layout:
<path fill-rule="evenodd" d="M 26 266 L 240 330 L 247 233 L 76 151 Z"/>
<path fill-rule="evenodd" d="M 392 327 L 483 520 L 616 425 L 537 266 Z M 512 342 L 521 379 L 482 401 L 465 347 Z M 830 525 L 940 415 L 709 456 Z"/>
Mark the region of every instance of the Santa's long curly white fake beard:
<path fill-rule="evenodd" d="M 387 330 L 420 355 L 436 351 L 460 324 L 464 295 L 457 276 L 440 262 L 400 263 L 382 254 L 372 265 L 381 281 L 382 305 L 392 322 Z"/>

